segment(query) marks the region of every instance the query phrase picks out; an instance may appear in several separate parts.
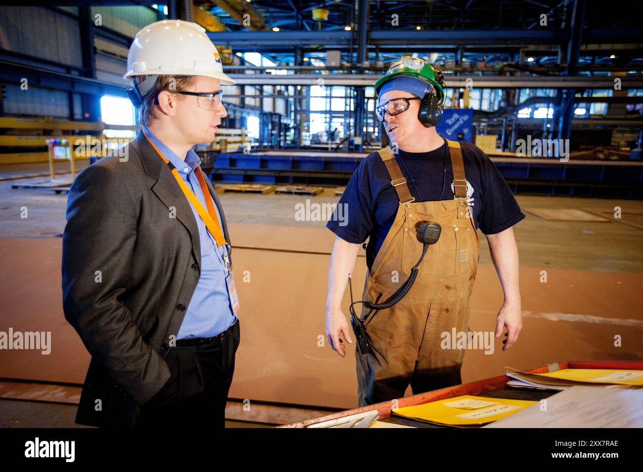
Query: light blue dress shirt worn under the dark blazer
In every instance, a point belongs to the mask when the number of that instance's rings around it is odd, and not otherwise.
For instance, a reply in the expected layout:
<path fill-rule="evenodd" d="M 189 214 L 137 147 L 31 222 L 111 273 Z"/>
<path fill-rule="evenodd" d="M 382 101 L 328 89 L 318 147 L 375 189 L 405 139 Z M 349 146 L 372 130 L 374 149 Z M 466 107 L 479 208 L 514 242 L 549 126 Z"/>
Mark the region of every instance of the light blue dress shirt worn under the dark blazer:
<path fill-rule="evenodd" d="M 195 173 L 195 170 L 201 164 L 201 159 L 190 149 L 185 156 L 185 161 L 180 159 L 170 148 L 165 146 L 148 128 L 145 132 L 150 138 L 150 141 L 163 153 L 165 159 L 172 162 L 176 167 L 179 175 L 186 182 L 194 195 L 199 199 L 199 202 L 204 208 L 207 208 L 201 185 Z M 159 159 L 161 159 L 159 157 Z M 174 179 L 172 179 L 174 180 Z M 179 185 L 174 182 L 175 185 Z M 183 192 L 181 192 L 183 193 Z M 186 197 L 184 197 L 186 198 Z M 187 198 L 186 198 L 187 200 Z M 189 201 L 188 201 L 189 203 Z M 179 329 L 177 339 L 181 338 L 210 338 L 219 333 L 223 333 L 226 329 L 230 328 L 237 317 L 232 310 L 230 302 L 230 294 L 228 293 L 228 284 L 226 283 L 226 275 L 228 275 L 226 265 L 221 256 L 222 252 L 226 251 L 224 246 L 217 247 L 217 243 L 213 238 L 205 223 L 197 213 L 197 210 L 190 204 L 194 219 L 197 221 L 199 227 L 199 241 L 201 242 L 201 277 L 192 295 L 192 300 L 187 304 L 185 318 Z M 217 218 L 221 223 L 221 214 L 219 208 L 214 205 L 217 212 Z"/>

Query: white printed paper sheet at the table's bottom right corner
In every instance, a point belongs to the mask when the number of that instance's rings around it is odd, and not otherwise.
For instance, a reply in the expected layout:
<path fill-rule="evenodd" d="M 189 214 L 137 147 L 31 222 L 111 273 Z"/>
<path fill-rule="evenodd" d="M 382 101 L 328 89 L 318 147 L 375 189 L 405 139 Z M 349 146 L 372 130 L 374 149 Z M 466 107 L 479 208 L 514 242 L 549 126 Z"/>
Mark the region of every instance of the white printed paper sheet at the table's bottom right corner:
<path fill-rule="evenodd" d="M 575 385 L 483 428 L 643 428 L 643 390 Z"/>

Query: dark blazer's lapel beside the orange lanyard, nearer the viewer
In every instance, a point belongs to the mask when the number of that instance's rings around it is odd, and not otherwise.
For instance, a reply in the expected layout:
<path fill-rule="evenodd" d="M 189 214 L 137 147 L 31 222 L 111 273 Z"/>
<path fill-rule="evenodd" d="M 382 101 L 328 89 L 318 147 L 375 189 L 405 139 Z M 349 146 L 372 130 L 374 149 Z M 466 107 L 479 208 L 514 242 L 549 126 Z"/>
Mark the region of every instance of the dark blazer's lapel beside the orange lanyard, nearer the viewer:
<path fill-rule="evenodd" d="M 138 137 L 136 137 L 131 144 L 141 157 L 145 173 L 157 179 L 151 189 L 167 207 L 168 218 L 171 207 L 174 207 L 176 210 L 174 212 L 176 219 L 179 220 L 190 233 L 192 252 L 194 252 L 195 260 L 200 263 L 201 242 L 199 241 L 199 227 L 194 219 L 190 202 L 188 202 L 176 179 L 174 179 L 170 168 L 163 162 L 163 159 L 161 159 L 161 156 L 158 155 L 156 150 L 152 148 L 142 132 L 138 133 Z"/>

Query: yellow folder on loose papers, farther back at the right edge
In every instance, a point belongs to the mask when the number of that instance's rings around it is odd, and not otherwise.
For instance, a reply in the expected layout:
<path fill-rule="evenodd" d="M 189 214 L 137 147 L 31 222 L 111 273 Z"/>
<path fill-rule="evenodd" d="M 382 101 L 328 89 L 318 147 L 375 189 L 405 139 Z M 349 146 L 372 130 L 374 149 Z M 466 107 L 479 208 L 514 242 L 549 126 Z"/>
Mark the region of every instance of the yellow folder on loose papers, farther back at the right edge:
<path fill-rule="evenodd" d="M 510 387 L 532 389 L 566 390 L 574 385 L 592 385 L 612 389 L 640 389 L 643 387 L 643 371 L 616 371 L 611 369 L 563 369 L 544 374 L 507 372 L 512 380 Z"/>

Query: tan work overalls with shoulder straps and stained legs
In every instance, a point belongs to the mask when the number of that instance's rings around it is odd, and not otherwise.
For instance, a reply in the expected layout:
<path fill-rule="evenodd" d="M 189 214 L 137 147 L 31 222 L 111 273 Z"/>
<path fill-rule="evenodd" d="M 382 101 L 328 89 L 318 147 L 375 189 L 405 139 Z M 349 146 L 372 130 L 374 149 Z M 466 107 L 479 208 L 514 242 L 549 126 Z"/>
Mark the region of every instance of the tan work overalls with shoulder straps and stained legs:
<path fill-rule="evenodd" d="M 439 223 L 442 232 L 430 245 L 410 292 L 386 310 L 372 311 L 365 329 L 373 353 L 356 350 L 359 406 L 402 398 L 408 384 L 413 394 L 461 383 L 464 349 L 456 334 L 469 331 L 469 297 L 478 268 L 478 234 L 467 204 L 460 143 L 447 141 L 453 168 L 455 198 L 413 202 L 390 147 L 379 151 L 397 191 L 400 205 L 364 288 L 363 299 L 383 303 L 403 286 L 417 264 L 423 244 L 419 227 Z M 362 317 L 371 310 L 364 308 Z M 442 349 L 442 333 L 448 349 Z"/>

